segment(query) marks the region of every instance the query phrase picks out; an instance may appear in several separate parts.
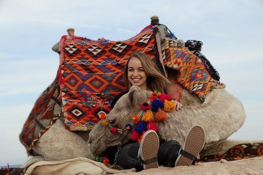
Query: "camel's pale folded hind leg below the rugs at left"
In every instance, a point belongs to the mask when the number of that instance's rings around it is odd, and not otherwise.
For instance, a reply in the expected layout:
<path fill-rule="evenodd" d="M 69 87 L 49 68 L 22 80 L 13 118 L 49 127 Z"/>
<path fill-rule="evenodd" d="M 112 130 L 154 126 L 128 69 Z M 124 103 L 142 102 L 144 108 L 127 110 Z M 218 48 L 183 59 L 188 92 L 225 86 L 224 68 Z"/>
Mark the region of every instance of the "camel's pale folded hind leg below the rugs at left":
<path fill-rule="evenodd" d="M 87 141 L 78 133 L 66 129 L 61 119 L 56 120 L 47 132 L 38 139 L 32 149 L 47 161 L 77 157 L 91 158 L 88 153 Z"/>

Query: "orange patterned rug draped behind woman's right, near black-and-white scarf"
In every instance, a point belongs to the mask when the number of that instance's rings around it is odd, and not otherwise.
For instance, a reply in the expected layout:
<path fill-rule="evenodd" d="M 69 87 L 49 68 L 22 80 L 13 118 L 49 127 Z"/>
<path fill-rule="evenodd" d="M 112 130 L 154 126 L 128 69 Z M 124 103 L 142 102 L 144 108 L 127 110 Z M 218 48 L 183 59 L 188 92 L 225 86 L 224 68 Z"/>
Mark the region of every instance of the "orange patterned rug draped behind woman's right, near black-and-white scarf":
<path fill-rule="evenodd" d="M 174 39 L 166 38 L 162 54 L 164 65 L 178 71 L 178 83 L 202 101 L 212 89 L 225 87 L 209 75 L 201 59 L 186 47 L 178 47 Z"/>

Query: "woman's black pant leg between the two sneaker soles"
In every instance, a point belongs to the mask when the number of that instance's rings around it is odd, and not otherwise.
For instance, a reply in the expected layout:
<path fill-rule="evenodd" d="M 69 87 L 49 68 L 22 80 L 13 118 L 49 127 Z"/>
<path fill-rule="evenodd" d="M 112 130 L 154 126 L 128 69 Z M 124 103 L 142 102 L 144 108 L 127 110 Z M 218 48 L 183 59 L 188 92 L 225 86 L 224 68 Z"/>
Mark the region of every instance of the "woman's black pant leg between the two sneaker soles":
<path fill-rule="evenodd" d="M 176 140 L 161 143 L 158 149 L 158 164 L 174 167 L 181 145 Z"/>

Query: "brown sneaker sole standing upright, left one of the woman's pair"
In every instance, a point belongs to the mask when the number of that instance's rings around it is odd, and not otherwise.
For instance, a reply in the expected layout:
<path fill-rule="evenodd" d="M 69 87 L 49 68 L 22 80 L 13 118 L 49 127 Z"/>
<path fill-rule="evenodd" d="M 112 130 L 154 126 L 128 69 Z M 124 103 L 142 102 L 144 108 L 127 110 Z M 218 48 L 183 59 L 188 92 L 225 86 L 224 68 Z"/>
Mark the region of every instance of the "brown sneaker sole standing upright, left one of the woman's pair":
<path fill-rule="evenodd" d="M 140 144 L 140 156 L 143 160 L 149 160 L 154 157 L 157 157 L 159 148 L 159 138 L 153 130 L 149 130 L 143 135 L 141 143 L 142 144 Z M 147 165 L 143 164 L 143 168 L 158 168 L 158 162 L 156 161 Z"/>

